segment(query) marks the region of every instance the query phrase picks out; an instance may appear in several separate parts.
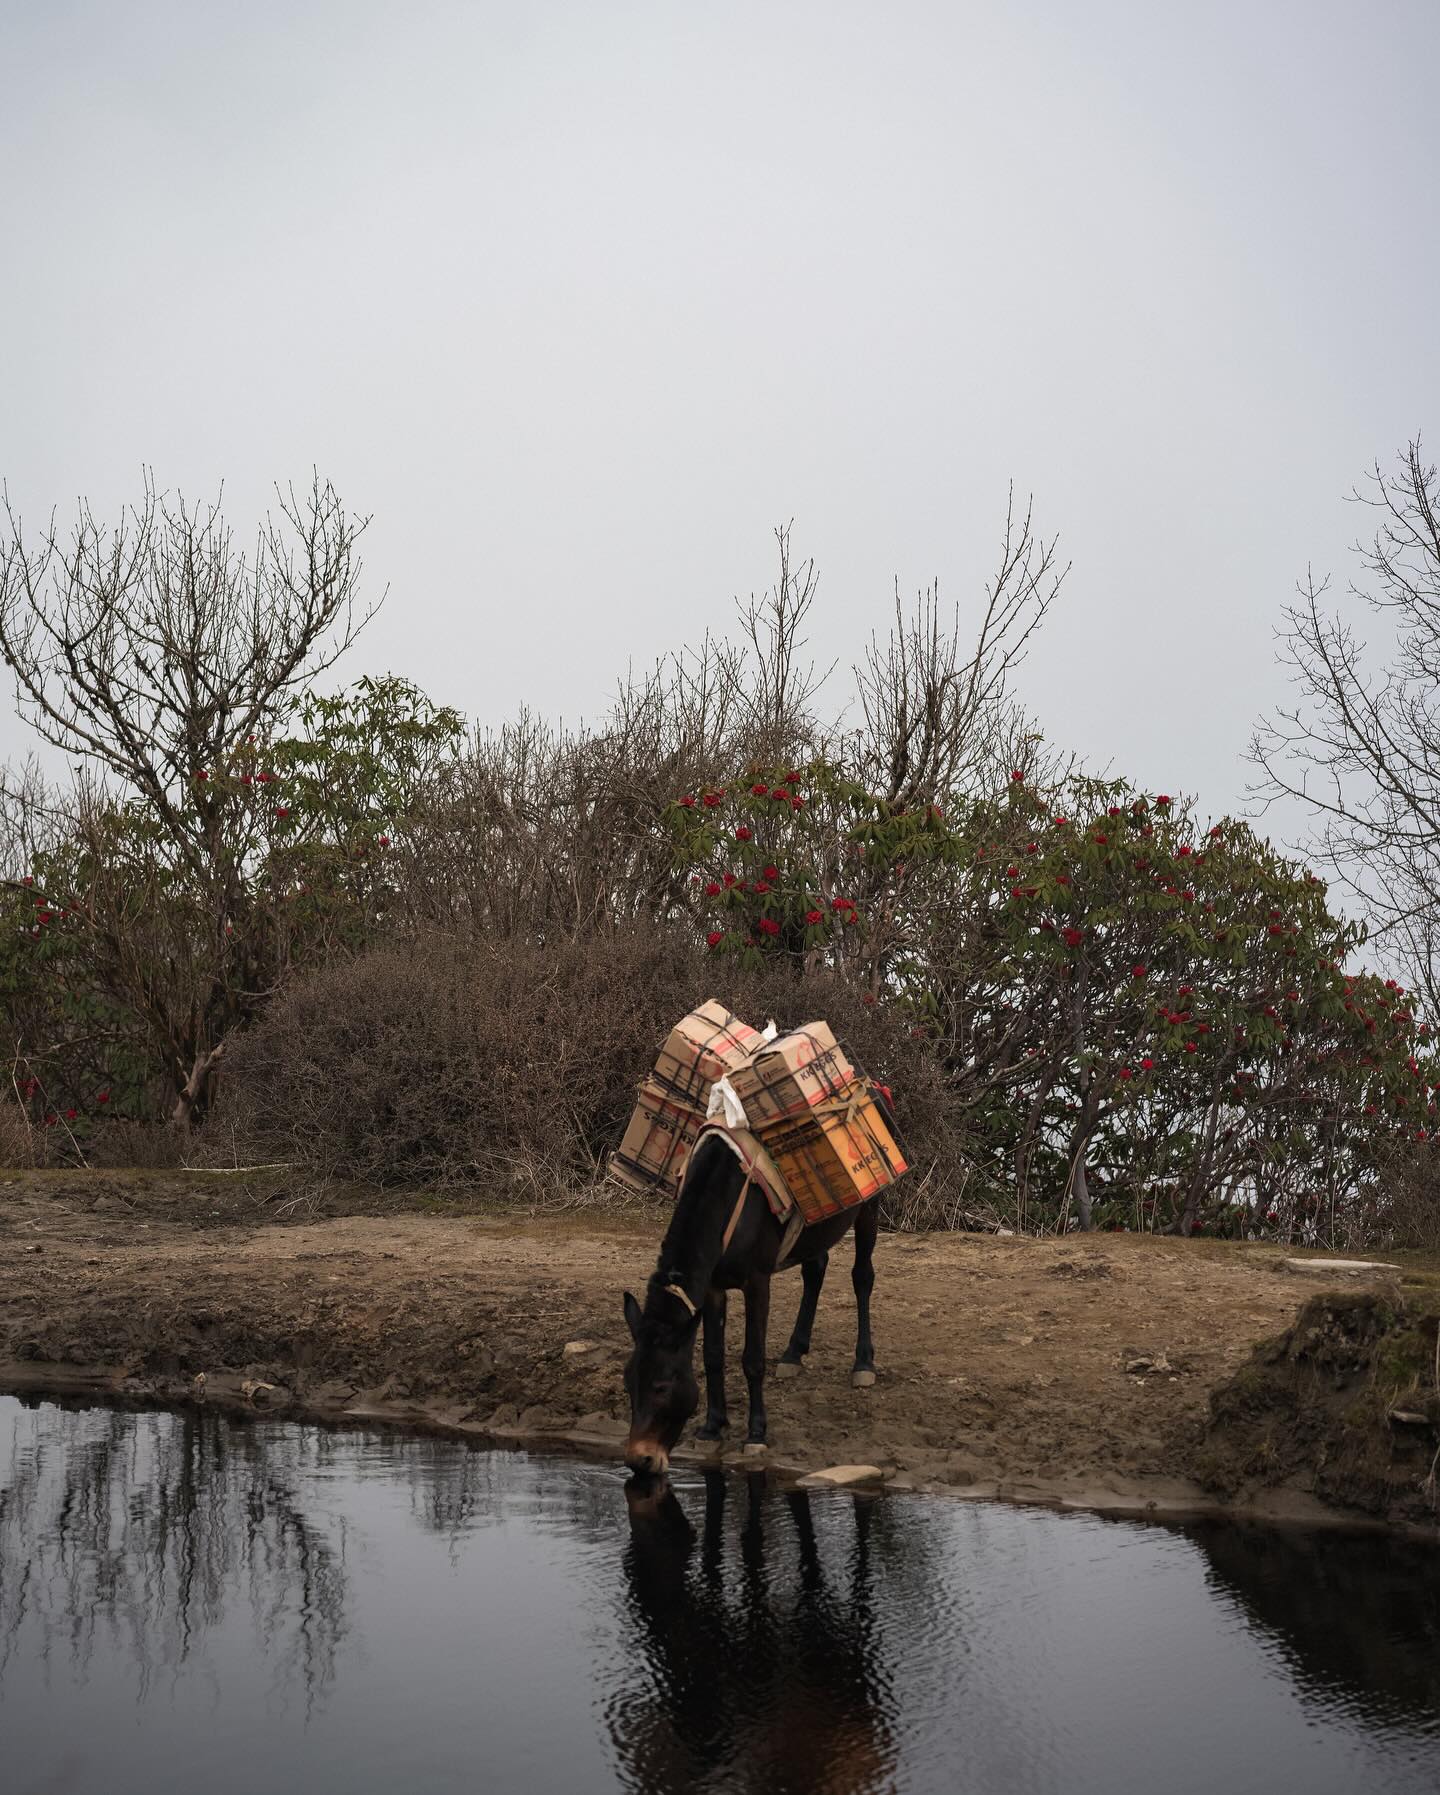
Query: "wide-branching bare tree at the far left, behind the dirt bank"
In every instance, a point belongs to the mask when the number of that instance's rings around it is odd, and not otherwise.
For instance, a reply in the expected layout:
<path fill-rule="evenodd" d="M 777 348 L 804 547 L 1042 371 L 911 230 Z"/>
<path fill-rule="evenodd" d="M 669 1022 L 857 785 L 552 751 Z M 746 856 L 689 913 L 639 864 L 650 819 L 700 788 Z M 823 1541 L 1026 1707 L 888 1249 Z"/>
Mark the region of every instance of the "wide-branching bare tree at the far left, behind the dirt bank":
<path fill-rule="evenodd" d="M 366 519 L 350 519 L 318 477 L 303 495 L 278 495 L 280 515 L 250 553 L 219 501 L 189 506 L 149 479 L 115 528 L 81 503 L 68 537 L 52 517 L 27 538 L 9 494 L 4 510 L 0 659 L 20 714 L 75 775 L 72 797 L 48 804 L 77 824 L 75 885 L 63 901 L 108 948 L 97 964 L 158 1038 L 174 1118 L 189 1124 L 255 998 L 230 935 L 257 813 L 219 774 L 273 732 L 368 621 L 356 612 Z M 11 797 L 36 811 L 32 790 Z M 183 978 L 156 978 L 135 951 L 158 908 L 169 930 L 183 928 L 165 962 Z"/>

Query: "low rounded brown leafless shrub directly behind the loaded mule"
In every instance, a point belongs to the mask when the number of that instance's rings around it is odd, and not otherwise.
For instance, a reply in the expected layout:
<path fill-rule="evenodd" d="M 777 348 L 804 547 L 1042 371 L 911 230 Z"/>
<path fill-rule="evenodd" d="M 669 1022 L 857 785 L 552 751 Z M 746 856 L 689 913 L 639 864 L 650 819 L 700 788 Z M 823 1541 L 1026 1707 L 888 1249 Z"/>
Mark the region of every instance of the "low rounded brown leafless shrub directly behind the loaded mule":
<path fill-rule="evenodd" d="M 781 1029 L 824 1016 L 894 1088 L 914 1186 L 941 1206 L 966 1188 L 941 1070 L 900 1016 L 828 975 L 736 975 L 648 930 L 553 950 L 435 939 L 325 968 L 237 1043 L 199 1145 L 372 1185 L 575 1197 L 661 1039 L 707 996 Z"/>

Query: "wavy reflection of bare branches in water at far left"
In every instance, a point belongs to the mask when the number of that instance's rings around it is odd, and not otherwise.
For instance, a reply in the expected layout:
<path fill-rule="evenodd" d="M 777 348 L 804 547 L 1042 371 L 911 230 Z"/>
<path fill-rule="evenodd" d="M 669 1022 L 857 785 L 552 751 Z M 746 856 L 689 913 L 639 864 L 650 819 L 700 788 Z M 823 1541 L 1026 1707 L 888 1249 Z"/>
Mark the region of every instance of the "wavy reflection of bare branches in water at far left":
<path fill-rule="evenodd" d="M 14 1651 L 126 1648 L 142 1693 L 248 1601 L 307 1700 L 345 1635 L 345 1528 L 302 1510 L 305 1436 L 203 1413 L 16 1409 L 0 1450 L 0 1678 Z"/>

